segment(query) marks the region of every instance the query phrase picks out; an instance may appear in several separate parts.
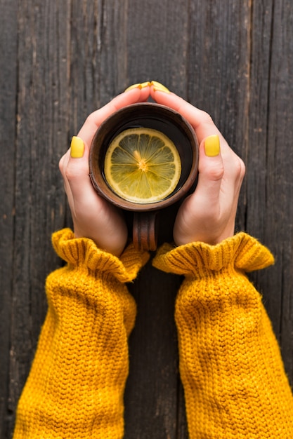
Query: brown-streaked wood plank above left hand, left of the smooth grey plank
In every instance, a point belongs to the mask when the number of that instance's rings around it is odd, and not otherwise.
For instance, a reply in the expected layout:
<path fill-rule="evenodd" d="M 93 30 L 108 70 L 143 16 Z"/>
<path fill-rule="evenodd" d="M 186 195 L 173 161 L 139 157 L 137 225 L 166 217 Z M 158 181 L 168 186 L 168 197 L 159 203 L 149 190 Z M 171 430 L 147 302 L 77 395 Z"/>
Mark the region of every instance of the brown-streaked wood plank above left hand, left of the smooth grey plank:
<path fill-rule="evenodd" d="M 127 86 L 126 19 L 126 4 L 118 0 L 72 1 L 70 133 Z"/>

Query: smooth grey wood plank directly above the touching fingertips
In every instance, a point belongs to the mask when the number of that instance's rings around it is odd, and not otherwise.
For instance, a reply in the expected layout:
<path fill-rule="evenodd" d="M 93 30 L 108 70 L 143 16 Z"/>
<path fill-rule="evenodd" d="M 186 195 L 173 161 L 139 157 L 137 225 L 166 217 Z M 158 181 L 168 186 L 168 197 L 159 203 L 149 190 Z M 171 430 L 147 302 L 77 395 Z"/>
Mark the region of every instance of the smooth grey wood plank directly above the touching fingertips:
<path fill-rule="evenodd" d="M 129 84 L 155 80 L 185 97 L 188 3 L 183 0 L 128 3 Z"/>

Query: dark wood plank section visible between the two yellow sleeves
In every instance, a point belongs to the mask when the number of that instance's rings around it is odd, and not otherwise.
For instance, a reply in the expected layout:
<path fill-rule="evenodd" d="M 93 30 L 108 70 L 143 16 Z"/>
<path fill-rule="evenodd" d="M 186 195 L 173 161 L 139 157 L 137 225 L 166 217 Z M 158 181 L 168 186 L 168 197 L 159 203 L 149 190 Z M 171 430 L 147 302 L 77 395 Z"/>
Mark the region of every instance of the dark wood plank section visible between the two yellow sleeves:
<path fill-rule="evenodd" d="M 150 264 L 132 286 L 138 305 L 130 339 L 126 438 L 176 438 L 178 355 L 174 323 L 177 276 Z"/>

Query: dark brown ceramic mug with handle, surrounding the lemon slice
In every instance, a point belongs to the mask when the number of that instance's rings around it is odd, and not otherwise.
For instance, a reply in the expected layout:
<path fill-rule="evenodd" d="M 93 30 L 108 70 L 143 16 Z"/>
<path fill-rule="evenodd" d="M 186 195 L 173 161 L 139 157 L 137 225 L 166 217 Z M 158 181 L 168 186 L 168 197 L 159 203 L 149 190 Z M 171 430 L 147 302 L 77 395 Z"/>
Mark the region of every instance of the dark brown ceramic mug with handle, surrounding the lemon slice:
<path fill-rule="evenodd" d="M 105 180 L 106 151 L 119 133 L 129 128 L 152 128 L 164 133 L 175 144 L 181 159 L 181 177 L 174 191 L 155 203 L 134 203 L 115 194 Z M 198 143 L 190 123 L 169 107 L 152 102 L 132 104 L 119 109 L 100 125 L 91 143 L 90 177 L 100 196 L 118 208 L 134 212 L 134 246 L 141 250 L 157 248 L 157 214 L 188 195 L 195 186 L 198 167 Z"/>

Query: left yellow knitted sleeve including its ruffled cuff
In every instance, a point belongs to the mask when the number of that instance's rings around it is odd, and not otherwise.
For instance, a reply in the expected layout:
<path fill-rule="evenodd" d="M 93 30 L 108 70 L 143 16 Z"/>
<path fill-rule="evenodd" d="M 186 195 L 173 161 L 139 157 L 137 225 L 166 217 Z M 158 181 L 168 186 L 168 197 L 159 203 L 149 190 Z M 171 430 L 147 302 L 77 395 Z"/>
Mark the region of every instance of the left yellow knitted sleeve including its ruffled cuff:
<path fill-rule="evenodd" d="M 53 234 L 53 246 L 67 265 L 46 281 L 48 312 L 13 438 L 122 438 L 136 316 L 124 283 L 148 255 L 130 246 L 118 259 L 69 229 Z"/>

